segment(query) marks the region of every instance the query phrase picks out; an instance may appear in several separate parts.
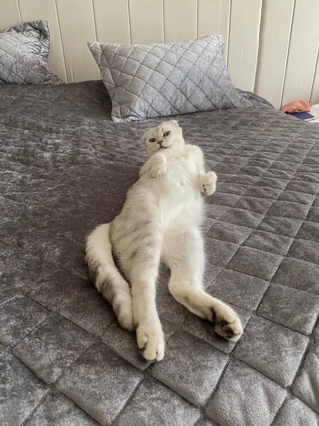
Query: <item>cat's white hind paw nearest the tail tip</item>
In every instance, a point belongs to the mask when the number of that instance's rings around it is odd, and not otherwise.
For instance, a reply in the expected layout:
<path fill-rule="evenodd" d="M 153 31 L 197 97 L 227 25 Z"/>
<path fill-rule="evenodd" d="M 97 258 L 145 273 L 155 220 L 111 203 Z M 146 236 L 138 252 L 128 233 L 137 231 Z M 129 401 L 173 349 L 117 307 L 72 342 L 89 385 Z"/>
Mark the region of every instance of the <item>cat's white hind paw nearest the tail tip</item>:
<path fill-rule="evenodd" d="M 159 320 L 145 322 L 136 330 L 138 349 L 147 361 L 161 361 L 164 357 L 164 334 Z"/>

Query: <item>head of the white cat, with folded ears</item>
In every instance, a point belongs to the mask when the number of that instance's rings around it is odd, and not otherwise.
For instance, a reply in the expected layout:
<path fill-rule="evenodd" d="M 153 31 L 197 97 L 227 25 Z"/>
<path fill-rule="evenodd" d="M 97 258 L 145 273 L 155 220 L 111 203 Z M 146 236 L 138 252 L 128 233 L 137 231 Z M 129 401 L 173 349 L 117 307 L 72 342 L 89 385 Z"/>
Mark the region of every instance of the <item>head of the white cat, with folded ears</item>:
<path fill-rule="evenodd" d="M 177 120 L 163 121 L 142 136 L 146 151 L 150 155 L 166 150 L 179 151 L 185 145 L 183 132 Z"/>

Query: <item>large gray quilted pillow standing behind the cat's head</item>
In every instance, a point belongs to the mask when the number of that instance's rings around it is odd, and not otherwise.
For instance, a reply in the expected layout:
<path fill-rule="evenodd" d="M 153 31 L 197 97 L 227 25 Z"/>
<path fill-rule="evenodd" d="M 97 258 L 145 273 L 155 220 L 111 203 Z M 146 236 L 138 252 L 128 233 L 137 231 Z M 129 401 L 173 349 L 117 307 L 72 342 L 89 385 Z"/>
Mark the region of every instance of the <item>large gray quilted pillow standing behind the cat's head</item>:
<path fill-rule="evenodd" d="M 113 121 L 251 106 L 230 80 L 221 35 L 181 43 L 88 45 L 112 99 Z"/>

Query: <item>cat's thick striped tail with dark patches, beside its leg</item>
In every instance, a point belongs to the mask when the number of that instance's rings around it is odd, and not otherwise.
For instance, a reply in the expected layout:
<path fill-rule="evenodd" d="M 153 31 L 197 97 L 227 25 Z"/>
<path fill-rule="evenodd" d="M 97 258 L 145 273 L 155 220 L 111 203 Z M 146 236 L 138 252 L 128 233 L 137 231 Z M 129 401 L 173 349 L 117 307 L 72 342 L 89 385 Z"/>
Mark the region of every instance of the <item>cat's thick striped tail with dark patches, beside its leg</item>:
<path fill-rule="evenodd" d="M 96 289 L 111 303 L 121 326 L 132 331 L 134 325 L 130 286 L 113 261 L 109 230 L 110 224 L 103 224 L 89 234 L 85 260 Z"/>

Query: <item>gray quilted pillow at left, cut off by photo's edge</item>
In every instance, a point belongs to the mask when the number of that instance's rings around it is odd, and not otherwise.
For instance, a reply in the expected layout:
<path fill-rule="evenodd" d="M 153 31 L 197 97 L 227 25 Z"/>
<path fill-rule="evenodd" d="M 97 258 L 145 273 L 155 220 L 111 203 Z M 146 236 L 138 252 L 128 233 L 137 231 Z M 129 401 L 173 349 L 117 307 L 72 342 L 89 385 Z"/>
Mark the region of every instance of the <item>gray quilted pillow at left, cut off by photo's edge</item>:
<path fill-rule="evenodd" d="M 50 30 L 47 21 L 25 22 L 0 33 L 1 84 L 57 84 L 47 67 Z"/>

